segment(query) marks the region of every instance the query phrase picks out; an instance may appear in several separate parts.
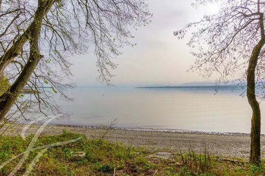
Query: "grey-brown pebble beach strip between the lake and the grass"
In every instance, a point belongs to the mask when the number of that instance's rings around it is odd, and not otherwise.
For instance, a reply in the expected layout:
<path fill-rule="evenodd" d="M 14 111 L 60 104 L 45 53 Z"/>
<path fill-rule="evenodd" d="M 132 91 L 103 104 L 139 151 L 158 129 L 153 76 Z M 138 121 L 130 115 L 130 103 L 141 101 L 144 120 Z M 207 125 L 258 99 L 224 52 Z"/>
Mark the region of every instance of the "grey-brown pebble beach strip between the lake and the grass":
<path fill-rule="evenodd" d="M 4 135 L 19 135 L 25 125 L 13 124 Z M 25 135 L 35 134 L 40 124 L 31 125 Z M 15 130 L 15 131 L 14 131 Z M 126 128 L 104 128 L 92 126 L 69 126 L 48 124 L 43 135 L 56 135 L 67 130 L 84 134 L 88 138 L 103 138 L 111 143 L 123 143 L 133 147 L 147 147 L 150 150 L 166 150 L 168 152 L 189 151 L 192 147 L 201 152 L 207 147 L 213 155 L 249 158 L 250 136 L 246 133 L 206 133 L 195 131 L 147 131 Z M 0 134 L 3 132 L 0 130 Z M 261 135 L 261 157 L 265 158 L 265 136 Z"/>

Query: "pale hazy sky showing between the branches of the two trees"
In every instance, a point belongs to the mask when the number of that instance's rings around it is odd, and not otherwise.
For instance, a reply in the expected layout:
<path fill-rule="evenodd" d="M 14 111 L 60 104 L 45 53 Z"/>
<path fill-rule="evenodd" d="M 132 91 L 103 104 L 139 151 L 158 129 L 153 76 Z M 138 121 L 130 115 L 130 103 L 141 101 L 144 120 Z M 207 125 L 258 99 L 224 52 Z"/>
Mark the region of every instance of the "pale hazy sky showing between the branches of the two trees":
<path fill-rule="evenodd" d="M 191 6 L 192 0 L 149 0 L 152 22 L 138 30 L 131 30 L 135 36 L 135 47 L 125 47 L 113 61 L 118 68 L 112 71 L 116 86 L 178 85 L 185 82 L 207 81 L 187 69 L 194 57 L 186 45 L 189 37 L 177 40 L 173 31 L 185 24 L 198 21 L 207 13 L 217 11 L 210 5 L 198 10 Z M 93 53 L 70 59 L 73 63 L 72 80 L 77 86 L 105 86 L 97 83 L 96 57 Z M 86 63 L 86 64 L 84 64 Z"/>

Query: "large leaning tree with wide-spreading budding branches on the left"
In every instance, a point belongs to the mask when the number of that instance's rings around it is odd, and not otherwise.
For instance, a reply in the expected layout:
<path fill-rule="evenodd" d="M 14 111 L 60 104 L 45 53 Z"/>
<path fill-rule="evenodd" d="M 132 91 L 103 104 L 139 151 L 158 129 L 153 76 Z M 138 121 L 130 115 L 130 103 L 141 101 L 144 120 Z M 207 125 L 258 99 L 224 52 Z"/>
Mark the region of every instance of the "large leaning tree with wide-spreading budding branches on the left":
<path fill-rule="evenodd" d="M 71 100 L 65 90 L 74 86 L 63 84 L 71 76 L 68 58 L 89 52 L 91 44 L 98 80 L 111 84 L 112 58 L 134 46 L 128 27 L 150 17 L 145 0 L 0 0 L 0 79 L 5 74 L 11 84 L 0 96 L 0 121 L 43 109 L 57 114 L 53 95 Z M 21 95 L 24 86 L 35 93 Z"/>

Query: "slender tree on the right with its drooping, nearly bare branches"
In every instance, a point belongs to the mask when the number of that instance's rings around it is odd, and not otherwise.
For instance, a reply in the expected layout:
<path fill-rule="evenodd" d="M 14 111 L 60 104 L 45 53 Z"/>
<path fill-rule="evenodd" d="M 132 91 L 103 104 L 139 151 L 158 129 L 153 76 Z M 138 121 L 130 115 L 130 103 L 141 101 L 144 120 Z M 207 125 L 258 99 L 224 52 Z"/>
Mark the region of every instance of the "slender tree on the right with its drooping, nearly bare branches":
<path fill-rule="evenodd" d="M 260 163 L 260 108 L 257 97 L 264 97 L 265 76 L 265 1 L 198 0 L 193 6 L 218 2 L 220 11 L 205 15 L 199 22 L 189 23 L 174 36 L 182 39 L 187 31 L 196 28 L 187 44 L 197 57 L 192 71 L 204 77 L 219 74 L 220 81 L 240 81 L 247 88 L 252 108 L 250 163 Z M 196 49 L 197 48 L 197 49 Z M 244 83 L 247 82 L 247 85 Z"/>

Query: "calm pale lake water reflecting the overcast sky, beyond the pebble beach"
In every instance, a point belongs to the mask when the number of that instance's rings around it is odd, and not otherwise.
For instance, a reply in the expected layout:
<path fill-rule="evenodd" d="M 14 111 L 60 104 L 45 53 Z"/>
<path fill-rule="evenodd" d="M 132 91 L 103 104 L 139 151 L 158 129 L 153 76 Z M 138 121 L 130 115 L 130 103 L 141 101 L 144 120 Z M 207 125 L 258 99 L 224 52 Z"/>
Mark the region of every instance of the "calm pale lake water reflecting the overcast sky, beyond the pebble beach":
<path fill-rule="evenodd" d="M 242 90 L 214 93 L 213 88 L 77 87 L 69 92 L 73 102 L 59 101 L 69 118 L 54 123 L 100 125 L 117 119 L 117 127 L 249 133 L 251 109 L 239 96 Z"/>

